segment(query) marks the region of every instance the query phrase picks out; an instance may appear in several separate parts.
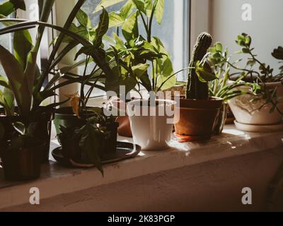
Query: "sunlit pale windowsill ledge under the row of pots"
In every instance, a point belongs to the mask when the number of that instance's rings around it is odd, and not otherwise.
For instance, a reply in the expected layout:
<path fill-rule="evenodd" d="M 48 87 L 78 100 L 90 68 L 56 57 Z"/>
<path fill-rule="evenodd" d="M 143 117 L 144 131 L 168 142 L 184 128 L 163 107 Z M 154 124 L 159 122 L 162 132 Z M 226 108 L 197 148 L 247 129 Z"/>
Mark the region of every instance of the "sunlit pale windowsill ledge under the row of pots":
<path fill-rule="evenodd" d="M 131 142 L 128 138 L 120 137 L 119 140 Z M 144 151 L 133 159 L 105 165 L 104 177 L 97 169 L 69 169 L 53 160 L 50 160 L 50 165 L 42 166 L 40 179 L 33 182 L 5 182 L 3 170 L 0 170 L 0 209 L 28 203 L 31 187 L 40 189 L 42 200 L 146 174 L 270 150 L 282 145 L 282 132 L 244 133 L 236 130 L 235 126 L 226 126 L 223 135 L 215 136 L 208 142 L 178 143 L 173 139 L 170 150 Z M 51 149 L 56 146 L 52 142 Z"/>

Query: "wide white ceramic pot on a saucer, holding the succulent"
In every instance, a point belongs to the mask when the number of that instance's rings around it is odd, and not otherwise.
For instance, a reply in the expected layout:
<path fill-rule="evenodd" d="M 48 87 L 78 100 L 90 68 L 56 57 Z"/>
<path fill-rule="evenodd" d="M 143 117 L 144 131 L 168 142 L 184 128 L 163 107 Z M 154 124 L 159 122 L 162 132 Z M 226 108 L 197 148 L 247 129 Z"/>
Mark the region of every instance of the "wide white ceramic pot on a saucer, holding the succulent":
<path fill-rule="evenodd" d="M 277 107 L 280 112 L 283 112 L 283 85 L 282 83 L 266 83 L 267 88 L 274 90 L 277 88 L 277 98 L 279 104 Z M 237 90 L 248 90 L 246 87 L 239 87 Z M 282 114 L 275 110 L 270 113 L 272 109 L 272 104 L 267 104 L 264 107 L 265 100 L 256 100 L 253 95 L 241 95 L 229 100 L 229 106 L 233 112 L 236 121 L 241 124 L 251 124 L 251 125 L 274 125 L 280 124 L 282 122 Z M 260 108 L 262 107 L 262 108 Z"/>

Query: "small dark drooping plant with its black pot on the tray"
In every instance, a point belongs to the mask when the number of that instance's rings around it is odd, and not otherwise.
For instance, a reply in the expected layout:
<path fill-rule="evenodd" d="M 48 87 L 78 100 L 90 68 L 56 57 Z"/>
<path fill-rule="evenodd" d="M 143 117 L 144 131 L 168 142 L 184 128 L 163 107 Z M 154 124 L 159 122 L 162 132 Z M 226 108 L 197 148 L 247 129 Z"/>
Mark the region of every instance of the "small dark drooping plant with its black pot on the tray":
<path fill-rule="evenodd" d="M 92 112 L 93 114 L 89 114 Z M 62 126 L 58 135 L 64 163 L 75 167 L 97 167 L 103 174 L 102 160 L 117 148 L 115 117 L 105 115 L 105 109 L 88 107 L 88 114 L 78 116 L 79 126 Z"/>

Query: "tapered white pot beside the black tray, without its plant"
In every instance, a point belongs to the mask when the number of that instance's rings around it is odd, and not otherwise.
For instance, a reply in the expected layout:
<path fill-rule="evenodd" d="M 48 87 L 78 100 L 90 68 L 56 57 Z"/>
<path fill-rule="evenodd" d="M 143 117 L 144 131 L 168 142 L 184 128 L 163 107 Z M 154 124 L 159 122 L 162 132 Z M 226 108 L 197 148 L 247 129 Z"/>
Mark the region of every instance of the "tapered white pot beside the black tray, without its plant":
<path fill-rule="evenodd" d="M 149 107 L 148 100 L 134 100 L 127 103 L 134 143 L 140 145 L 142 150 L 163 150 L 168 148 L 168 142 L 171 141 L 175 102 L 172 100 L 156 100 L 156 102 L 157 107 Z"/>

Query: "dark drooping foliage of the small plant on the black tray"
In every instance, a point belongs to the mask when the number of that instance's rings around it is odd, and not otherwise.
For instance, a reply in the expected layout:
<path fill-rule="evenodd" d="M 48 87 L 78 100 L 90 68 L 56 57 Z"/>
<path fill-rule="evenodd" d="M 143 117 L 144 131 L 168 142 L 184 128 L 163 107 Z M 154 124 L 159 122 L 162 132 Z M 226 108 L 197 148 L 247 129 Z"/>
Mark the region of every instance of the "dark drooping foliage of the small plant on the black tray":
<path fill-rule="evenodd" d="M 61 133 L 58 139 L 62 147 L 67 148 L 70 156 L 79 156 L 77 161 L 81 164 L 92 163 L 103 174 L 101 154 L 103 154 L 106 138 L 111 136 L 107 126 L 115 122 L 115 117 L 105 116 L 104 108 L 90 107 L 89 112 L 94 115 L 89 118 L 81 118 L 83 121 L 81 127 L 60 126 Z M 76 159 L 73 160 L 76 161 Z"/>

